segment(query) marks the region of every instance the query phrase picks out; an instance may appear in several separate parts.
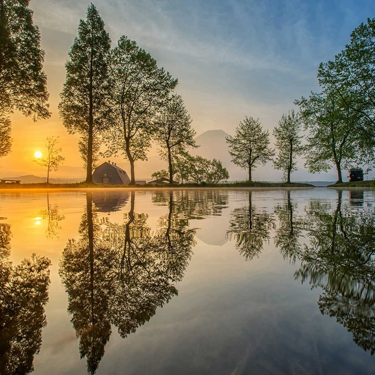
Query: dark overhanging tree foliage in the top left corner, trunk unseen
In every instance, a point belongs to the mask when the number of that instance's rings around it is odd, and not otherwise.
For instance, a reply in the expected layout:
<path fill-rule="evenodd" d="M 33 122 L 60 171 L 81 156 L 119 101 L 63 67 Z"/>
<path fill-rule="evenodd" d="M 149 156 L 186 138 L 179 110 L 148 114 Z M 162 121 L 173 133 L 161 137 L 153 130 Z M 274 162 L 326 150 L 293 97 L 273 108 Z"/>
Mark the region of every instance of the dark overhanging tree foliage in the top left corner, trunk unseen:
<path fill-rule="evenodd" d="M 34 121 L 50 116 L 44 51 L 29 2 L 0 0 L 0 157 L 10 151 L 9 114 L 18 110 Z"/>

